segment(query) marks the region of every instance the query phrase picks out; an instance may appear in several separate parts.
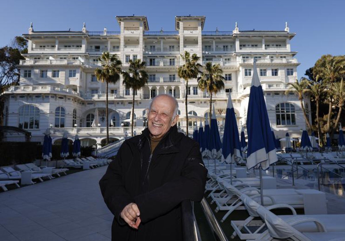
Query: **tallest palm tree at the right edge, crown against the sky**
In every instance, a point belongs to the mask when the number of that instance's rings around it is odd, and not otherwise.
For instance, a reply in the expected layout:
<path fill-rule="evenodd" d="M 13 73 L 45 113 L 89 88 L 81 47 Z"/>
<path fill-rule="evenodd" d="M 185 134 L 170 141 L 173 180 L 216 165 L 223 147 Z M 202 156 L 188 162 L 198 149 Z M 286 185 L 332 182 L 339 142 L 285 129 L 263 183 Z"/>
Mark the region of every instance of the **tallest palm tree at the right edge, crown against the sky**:
<path fill-rule="evenodd" d="M 327 84 L 340 81 L 345 75 L 345 56 L 322 55 L 313 67 L 313 74 L 321 77 Z M 331 129 L 332 96 L 329 96 L 328 103 L 327 132 Z M 336 129 L 337 126 L 334 126 L 334 128 Z"/>

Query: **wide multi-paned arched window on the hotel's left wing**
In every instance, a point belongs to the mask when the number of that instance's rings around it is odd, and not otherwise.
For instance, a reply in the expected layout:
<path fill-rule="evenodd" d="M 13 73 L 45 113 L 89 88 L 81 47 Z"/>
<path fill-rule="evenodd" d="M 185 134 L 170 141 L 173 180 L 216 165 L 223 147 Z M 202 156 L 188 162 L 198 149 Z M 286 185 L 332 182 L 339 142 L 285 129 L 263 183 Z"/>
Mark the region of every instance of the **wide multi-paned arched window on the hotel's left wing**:
<path fill-rule="evenodd" d="M 19 108 L 19 128 L 38 129 L 40 126 L 40 109 L 34 105 Z"/>

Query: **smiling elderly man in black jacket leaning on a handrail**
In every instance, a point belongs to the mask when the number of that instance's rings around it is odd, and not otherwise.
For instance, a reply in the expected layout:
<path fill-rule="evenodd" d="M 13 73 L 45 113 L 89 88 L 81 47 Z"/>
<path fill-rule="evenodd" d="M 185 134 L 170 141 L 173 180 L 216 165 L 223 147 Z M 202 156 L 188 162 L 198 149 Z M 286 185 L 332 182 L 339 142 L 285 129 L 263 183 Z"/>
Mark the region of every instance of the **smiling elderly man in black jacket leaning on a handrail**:
<path fill-rule="evenodd" d="M 99 181 L 112 240 L 182 240 L 181 201 L 203 198 L 207 170 L 198 144 L 177 132 L 176 99 L 158 95 L 148 111 L 148 128 L 122 144 Z"/>

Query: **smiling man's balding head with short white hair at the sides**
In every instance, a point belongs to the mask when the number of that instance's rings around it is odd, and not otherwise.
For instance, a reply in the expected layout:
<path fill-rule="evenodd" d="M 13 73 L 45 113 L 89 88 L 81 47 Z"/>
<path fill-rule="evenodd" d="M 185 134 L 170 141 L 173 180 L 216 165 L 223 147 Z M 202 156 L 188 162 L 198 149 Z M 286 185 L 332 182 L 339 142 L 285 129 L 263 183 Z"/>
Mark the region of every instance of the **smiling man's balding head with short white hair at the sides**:
<path fill-rule="evenodd" d="M 168 96 L 158 96 L 154 99 L 148 113 L 148 128 L 152 138 L 160 138 L 174 126 L 178 115 L 174 115 L 175 101 Z"/>

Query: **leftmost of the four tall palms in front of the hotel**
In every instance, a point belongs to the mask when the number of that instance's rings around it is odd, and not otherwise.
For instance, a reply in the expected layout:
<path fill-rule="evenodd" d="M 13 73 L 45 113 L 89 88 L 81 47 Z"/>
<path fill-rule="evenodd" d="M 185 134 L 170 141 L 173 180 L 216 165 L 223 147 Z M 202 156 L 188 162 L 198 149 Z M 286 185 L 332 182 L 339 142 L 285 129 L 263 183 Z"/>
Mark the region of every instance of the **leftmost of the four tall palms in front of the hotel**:
<path fill-rule="evenodd" d="M 109 52 L 103 52 L 98 59 L 101 67 L 95 70 L 95 75 L 98 81 L 106 83 L 106 117 L 107 117 L 107 145 L 109 143 L 109 116 L 108 116 L 108 84 L 115 84 L 120 79 L 121 61 L 114 54 L 110 56 Z"/>

